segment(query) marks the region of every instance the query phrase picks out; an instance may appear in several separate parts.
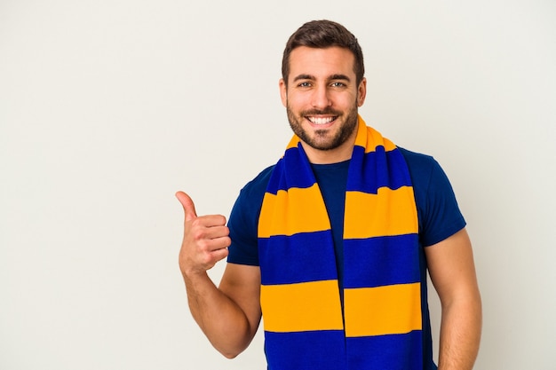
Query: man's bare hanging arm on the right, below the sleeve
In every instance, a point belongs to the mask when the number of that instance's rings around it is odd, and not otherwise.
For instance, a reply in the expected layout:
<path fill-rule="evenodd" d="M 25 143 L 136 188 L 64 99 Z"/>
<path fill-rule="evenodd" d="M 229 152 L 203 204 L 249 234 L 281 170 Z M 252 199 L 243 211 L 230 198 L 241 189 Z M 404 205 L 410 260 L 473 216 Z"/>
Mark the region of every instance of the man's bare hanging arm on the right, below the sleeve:
<path fill-rule="evenodd" d="M 481 341 L 481 294 L 465 229 L 425 248 L 442 318 L 439 370 L 471 370 Z"/>

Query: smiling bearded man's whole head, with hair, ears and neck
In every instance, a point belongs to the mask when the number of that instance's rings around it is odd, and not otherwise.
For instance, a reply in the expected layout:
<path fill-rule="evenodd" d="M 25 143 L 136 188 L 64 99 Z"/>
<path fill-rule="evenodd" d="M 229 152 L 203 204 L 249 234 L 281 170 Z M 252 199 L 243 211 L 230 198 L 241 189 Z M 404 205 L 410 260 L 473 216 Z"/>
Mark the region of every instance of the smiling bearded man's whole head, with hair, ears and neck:
<path fill-rule="evenodd" d="M 280 91 L 290 127 L 312 162 L 351 157 L 366 94 L 361 47 L 343 26 L 308 22 L 286 45 Z"/>

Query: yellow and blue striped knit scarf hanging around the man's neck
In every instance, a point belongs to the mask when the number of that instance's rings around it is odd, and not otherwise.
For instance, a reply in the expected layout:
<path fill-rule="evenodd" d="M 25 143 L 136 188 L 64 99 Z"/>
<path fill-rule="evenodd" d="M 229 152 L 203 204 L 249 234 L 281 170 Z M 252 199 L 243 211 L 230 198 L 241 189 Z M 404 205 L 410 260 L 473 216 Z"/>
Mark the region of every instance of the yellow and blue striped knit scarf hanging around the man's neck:
<path fill-rule="evenodd" d="M 417 208 L 409 169 L 359 117 L 344 215 L 344 307 L 330 220 L 294 136 L 258 221 L 269 369 L 423 368 Z"/>

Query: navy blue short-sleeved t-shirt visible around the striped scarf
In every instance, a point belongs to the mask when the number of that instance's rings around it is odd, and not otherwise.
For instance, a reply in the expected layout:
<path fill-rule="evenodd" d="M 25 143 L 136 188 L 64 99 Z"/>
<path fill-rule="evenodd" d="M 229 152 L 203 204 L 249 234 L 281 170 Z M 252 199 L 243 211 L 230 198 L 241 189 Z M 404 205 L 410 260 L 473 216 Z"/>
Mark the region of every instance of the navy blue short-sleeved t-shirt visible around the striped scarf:
<path fill-rule="evenodd" d="M 456 201 L 456 196 L 449 184 L 449 179 L 433 157 L 417 154 L 399 148 L 408 164 L 419 225 L 421 295 L 423 312 L 423 343 L 425 369 L 434 369 L 433 350 L 430 332 L 430 319 L 426 291 L 426 261 L 424 248 L 449 238 L 465 227 Z M 321 188 L 322 198 L 329 213 L 336 262 L 338 282 L 342 292 L 344 272 L 343 232 L 344 207 L 346 201 L 346 182 L 349 161 L 333 164 L 312 164 L 314 176 Z M 227 262 L 231 264 L 249 264 L 258 266 L 258 216 L 262 206 L 270 175 L 274 166 L 264 169 L 242 188 L 235 201 L 228 220 L 232 240 Z"/>

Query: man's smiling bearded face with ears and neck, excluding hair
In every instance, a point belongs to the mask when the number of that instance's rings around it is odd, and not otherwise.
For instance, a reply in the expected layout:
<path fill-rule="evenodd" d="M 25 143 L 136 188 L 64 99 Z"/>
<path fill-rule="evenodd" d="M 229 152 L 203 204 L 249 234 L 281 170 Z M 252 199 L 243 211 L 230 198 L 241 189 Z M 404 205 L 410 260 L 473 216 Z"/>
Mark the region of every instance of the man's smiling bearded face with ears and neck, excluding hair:
<path fill-rule="evenodd" d="M 353 61 L 353 53 L 339 47 L 291 51 L 288 86 L 280 81 L 282 104 L 309 159 L 311 154 L 325 161 L 351 157 L 357 107 L 366 92 L 366 81 L 355 81 Z"/>

